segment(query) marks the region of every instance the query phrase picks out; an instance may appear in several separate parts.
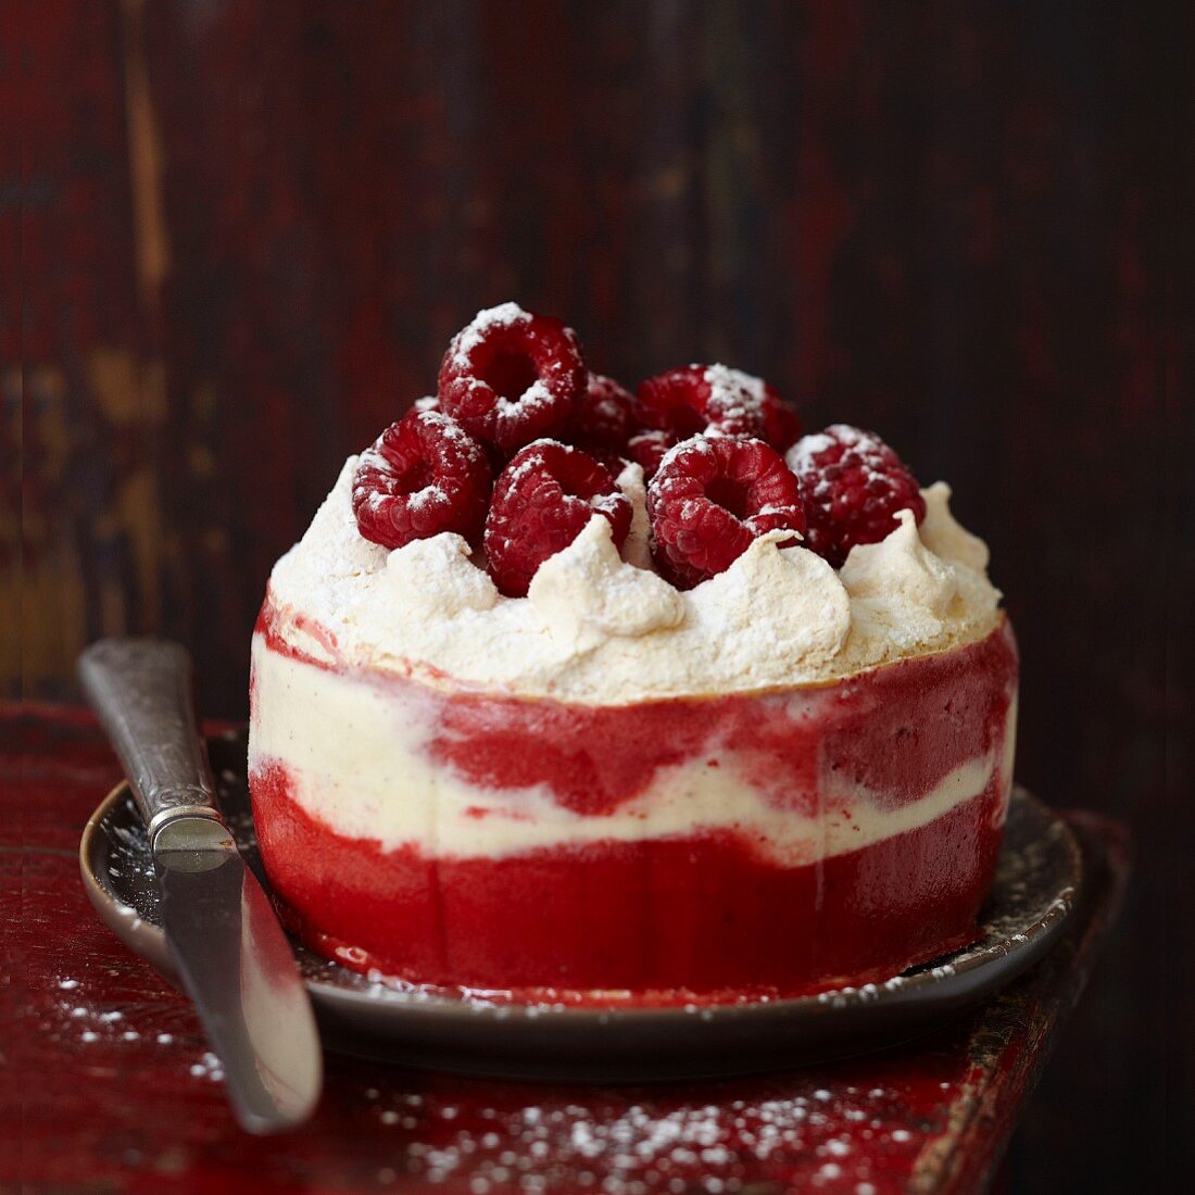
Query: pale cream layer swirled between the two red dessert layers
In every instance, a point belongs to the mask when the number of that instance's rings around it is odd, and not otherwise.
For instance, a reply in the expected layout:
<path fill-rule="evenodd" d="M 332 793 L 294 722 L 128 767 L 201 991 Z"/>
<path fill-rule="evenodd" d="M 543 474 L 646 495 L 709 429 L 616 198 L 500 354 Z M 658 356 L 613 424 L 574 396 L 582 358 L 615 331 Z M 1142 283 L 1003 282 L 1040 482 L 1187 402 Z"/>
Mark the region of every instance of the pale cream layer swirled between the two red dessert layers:
<path fill-rule="evenodd" d="M 250 768 L 283 764 L 308 814 L 338 834 L 376 840 L 384 851 L 409 845 L 436 858 L 501 858 L 535 847 L 734 831 L 777 865 L 797 866 L 925 826 L 981 793 L 993 774 L 1003 822 L 1012 782 L 1015 700 L 1003 744 L 906 804 L 827 777 L 817 815 L 777 808 L 741 774 L 733 752 L 711 744 L 709 754 L 661 768 L 645 792 L 613 814 L 583 815 L 544 786 L 479 788 L 435 762 L 434 706 L 416 684 L 329 672 L 269 649 L 261 635 L 253 678 Z M 715 750 L 721 766 L 710 768 Z"/>

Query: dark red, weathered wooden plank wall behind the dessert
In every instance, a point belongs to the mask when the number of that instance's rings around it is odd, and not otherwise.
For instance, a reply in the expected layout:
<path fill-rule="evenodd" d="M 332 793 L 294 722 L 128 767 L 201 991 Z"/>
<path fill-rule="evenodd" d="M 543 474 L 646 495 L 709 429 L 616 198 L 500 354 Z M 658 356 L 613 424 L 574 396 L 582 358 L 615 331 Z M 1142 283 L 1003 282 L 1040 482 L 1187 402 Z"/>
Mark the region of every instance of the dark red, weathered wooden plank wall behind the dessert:
<path fill-rule="evenodd" d="M 807 425 L 875 427 L 954 484 L 1021 637 L 1022 779 L 1133 823 L 1126 923 L 1011 1177 L 1147 1185 L 1193 1047 L 1168 920 L 1195 819 L 1166 799 L 1193 39 L 1164 14 L 4 6 L 5 691 L 72 698 L 85 642 L 158 631 L 206 712 L 241 716 L 270 564 L 480 306 L 564 315 L 629 382 L 761 373 Z"/>

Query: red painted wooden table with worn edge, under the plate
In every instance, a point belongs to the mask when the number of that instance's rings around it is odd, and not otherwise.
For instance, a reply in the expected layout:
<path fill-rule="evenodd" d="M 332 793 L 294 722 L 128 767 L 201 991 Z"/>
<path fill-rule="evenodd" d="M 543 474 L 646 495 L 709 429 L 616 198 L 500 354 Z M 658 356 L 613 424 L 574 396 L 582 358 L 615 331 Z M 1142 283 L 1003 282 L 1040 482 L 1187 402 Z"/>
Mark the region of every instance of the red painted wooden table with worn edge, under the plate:
<path fill-rule="evenodd" d="M 470 1080 L 330 1056 L 323 1104 L 253 1139 L 185 999 L 93 915 L 84 822 L 120 778 L 84 713 L 0 723 L 0 1190 L 970 1191 L 1083 991 L 1126 876 L 1122 832 L 1072 815 L 1092 899 L 989 1004 L 865 1058 L 685 1086 Z"/>

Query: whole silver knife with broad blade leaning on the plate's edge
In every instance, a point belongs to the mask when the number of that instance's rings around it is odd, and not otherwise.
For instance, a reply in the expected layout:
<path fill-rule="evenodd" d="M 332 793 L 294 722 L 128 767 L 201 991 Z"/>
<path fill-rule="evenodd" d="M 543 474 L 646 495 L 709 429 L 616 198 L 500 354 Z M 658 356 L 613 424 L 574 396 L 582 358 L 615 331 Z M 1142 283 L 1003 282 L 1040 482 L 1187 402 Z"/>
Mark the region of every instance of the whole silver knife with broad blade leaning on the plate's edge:
<path fill-rule="evenodd" d="M 306 1120 L 319 1099 L 315 1018 L 274 908 L 215 803 L 177 643 L 100 639 L 79 657 L 84 692 L 149 832 L 161 924 L 178 974 L 250 1133 Z"/>

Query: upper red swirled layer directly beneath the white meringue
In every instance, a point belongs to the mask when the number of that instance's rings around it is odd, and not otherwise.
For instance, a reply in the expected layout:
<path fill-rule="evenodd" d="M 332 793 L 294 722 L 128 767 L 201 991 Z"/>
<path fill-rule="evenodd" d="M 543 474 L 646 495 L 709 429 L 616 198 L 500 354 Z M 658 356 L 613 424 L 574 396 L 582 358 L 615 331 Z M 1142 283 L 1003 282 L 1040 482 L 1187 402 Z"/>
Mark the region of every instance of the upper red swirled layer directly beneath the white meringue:
<path fill-rule="evenodd" d="M 313 626 L 307 620 L 307 633 Z M 266 645 L 315 667 L 277 631 L 270 599 L 257 625 Z M 335 637 L 320 642 L 335 650 Z M 819 771 L 841 773 L 895 804 L 915 801 L 944 776 L 1001 741 L 1017 650 L 1007 620 L 986 638 L 820 688 L 630 705 L 572 705 L 445 692 L 387 675 L 435 706 L 435 760 L 486 789 L 545 785 L 580 814 L 633 801 L 664 767 L 721 741 L 777 808 L 816 811 Z M 378 682 L 370 674 L 369 682 Z"/>

